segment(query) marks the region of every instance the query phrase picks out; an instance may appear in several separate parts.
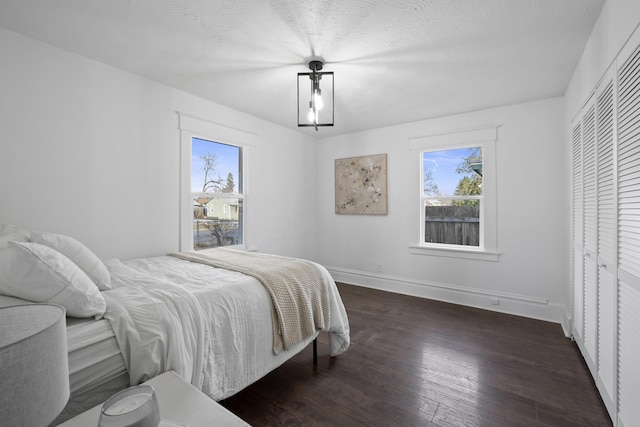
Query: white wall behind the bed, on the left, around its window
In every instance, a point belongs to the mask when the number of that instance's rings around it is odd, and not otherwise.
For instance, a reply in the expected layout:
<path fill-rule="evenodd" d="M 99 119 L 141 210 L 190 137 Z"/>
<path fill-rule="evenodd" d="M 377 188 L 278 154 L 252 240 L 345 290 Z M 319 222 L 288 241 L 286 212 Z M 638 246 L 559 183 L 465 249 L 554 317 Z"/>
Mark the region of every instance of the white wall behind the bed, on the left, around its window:
<path fill-rule="evenodd" d="M 313 138 L 3 29 L 0 57 L 0 221 L 103 258 L 177 250 L 181 111 L 258 135 L 249 242 L 315 257 Z"/>

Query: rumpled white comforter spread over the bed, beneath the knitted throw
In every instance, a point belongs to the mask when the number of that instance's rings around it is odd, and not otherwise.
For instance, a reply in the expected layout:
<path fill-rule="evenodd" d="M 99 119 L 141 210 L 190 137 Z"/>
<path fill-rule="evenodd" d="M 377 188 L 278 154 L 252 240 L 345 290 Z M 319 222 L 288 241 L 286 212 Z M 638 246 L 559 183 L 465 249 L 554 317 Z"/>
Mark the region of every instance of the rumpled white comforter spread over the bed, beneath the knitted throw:
<path fill-rule="evenodd" d="M 114 289 L 107 311 L 131 384 L 166 370 L 215 400 L 229 397 L 302 350 L 310 337 L 275 355 L 271 302 L 260 282 L 242 273 L 170 256 L 110 260 Z M 329 273 L 331 355 L 349 347 L 349 322 Z"/>

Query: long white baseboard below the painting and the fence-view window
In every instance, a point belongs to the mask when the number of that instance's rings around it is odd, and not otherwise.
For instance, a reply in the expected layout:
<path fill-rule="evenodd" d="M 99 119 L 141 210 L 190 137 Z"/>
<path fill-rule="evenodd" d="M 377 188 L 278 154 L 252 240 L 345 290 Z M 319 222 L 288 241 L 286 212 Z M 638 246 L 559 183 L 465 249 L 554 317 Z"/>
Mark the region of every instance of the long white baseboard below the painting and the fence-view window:
<path fill-rule="evenodd" d="M 565 329 L 565 324 L 570 324 L 567 323 L 564 306 L 549 304 L 546 298 L 474 289 L 341 267 L 327 267 L 327 270 L 336 282 L 546 320 L 559 323 L 563 329 Z M 566 329 L 564 332 L 567 335 Z"/>

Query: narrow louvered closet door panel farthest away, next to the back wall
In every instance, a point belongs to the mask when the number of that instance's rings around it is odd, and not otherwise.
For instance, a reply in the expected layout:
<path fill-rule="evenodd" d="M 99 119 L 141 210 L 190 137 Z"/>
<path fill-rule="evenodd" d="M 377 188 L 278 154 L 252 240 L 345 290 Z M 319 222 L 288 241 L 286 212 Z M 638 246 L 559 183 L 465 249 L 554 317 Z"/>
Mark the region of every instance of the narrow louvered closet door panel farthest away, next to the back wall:
<path fill-rule="evenodd" d="M 579 342 L 584 329 L 584 287 L 582 260 L 583 194 L 582 194 L 582 122 L 573 127 L 572 136 L 572 223 L 573 223 L 573 335 Z"/>

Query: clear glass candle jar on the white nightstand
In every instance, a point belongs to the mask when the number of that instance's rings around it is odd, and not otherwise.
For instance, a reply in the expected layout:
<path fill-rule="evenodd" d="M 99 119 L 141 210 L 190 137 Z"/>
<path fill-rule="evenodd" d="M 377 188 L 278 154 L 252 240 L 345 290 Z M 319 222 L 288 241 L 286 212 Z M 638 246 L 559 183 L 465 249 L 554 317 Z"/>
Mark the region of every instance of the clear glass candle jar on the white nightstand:
<path fill-rule="evenodd" d="M 100 409 L 98 427 L 158 427 L 160 407 L 155 390 L 139 385 L 111 396 Z"/>

